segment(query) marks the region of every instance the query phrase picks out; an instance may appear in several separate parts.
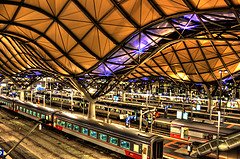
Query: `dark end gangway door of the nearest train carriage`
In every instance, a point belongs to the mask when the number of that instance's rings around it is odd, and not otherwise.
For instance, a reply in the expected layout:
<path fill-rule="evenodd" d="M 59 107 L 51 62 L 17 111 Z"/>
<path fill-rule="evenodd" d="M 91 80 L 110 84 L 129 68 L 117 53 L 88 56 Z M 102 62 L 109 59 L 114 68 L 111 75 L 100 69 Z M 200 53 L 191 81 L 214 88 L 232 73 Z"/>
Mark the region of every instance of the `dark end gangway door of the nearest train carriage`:
<path fill-rule="evenodd" d="M 155 141 L 152 145 L 152 159 L 163 158 L 163 141 Z"/>

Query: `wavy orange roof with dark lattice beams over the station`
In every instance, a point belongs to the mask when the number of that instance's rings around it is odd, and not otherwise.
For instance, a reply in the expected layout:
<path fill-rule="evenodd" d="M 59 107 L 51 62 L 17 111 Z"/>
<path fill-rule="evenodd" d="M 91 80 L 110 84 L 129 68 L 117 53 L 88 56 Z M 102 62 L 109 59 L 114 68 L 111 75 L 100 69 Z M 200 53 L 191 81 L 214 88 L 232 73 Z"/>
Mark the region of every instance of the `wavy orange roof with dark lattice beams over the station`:
<path fill-rule="evenodd" d="M 208 83 L 240 70 L 237 0 L 0 2 L 0 72 L 60 75 L 93 98 L 148 76 Z M 219 73 L 219 71 L 226 73 Z"/>

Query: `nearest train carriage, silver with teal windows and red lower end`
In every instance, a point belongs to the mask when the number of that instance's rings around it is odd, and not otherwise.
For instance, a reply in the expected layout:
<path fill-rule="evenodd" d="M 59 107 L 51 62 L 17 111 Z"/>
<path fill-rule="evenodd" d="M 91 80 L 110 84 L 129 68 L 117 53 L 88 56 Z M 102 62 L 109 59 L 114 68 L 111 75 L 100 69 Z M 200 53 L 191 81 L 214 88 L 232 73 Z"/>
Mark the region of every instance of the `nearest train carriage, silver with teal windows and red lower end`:
<path fill-rule="evenodd" d="M 163 139 L 156 135 L 60 112 L 54 114 L 54 127 L 135 159 L 163 157 Z"/>

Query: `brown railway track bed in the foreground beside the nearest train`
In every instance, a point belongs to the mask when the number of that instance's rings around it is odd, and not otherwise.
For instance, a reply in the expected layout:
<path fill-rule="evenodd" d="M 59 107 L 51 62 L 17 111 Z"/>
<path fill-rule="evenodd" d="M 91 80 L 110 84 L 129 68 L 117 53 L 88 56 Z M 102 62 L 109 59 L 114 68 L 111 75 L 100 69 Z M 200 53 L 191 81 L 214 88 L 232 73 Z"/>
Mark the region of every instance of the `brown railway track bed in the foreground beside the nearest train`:
<path fill-rule="evenodd" d="M 6 133 L 8 136 L 14 137 L 17 141 L 19 141 L 23 135 L 25 135 L 34 126 L 33 121 L 29 121 L 28 119 L 22 117 L 20 117 L 21 119 L 16 119 L 13 115 L 6 114 L 8 114 L 6 111 L 4 113 L 0 112 L 0 117 L 3 118 L 2 122 L 4 122 L 4 126 L 2 125 L 0 130 L 14 130 Z M 59 159 L 94 159 L 99 157 L 99 155 L 96 155 L 96 146 L 92 146 L 87 142 L 79 143 L 81 140 L 76 141 L 75 137 L 66 135 L 64 133 L 58 133 L 59 132 L 57 131 L 51 131 L 51 133 L 49 133 L 49 130 L 46 128 L 42 129 L 42 131 L 35 130 L 27 139 L 23 141 L 23 144 L 28 144 L 28 146 L 29 144 L 34 145 L 36 151 L 45 152 L 46 155 L 42 154 L 40 158 L 50 157 Z M 82 148 L 84 149 L 82 150 Z M 86 151 L 86 149 L 88 149 L 88 151 Z M 106 159 L 120 158 L 120 156 L 117 156 L 116 154 L 111 154 L 111 152 L 106 152 L 101 149 L 97 153 L 102 154 L 102 157 Z M 52 156 L 49 156 L 49 154 Z"/>

